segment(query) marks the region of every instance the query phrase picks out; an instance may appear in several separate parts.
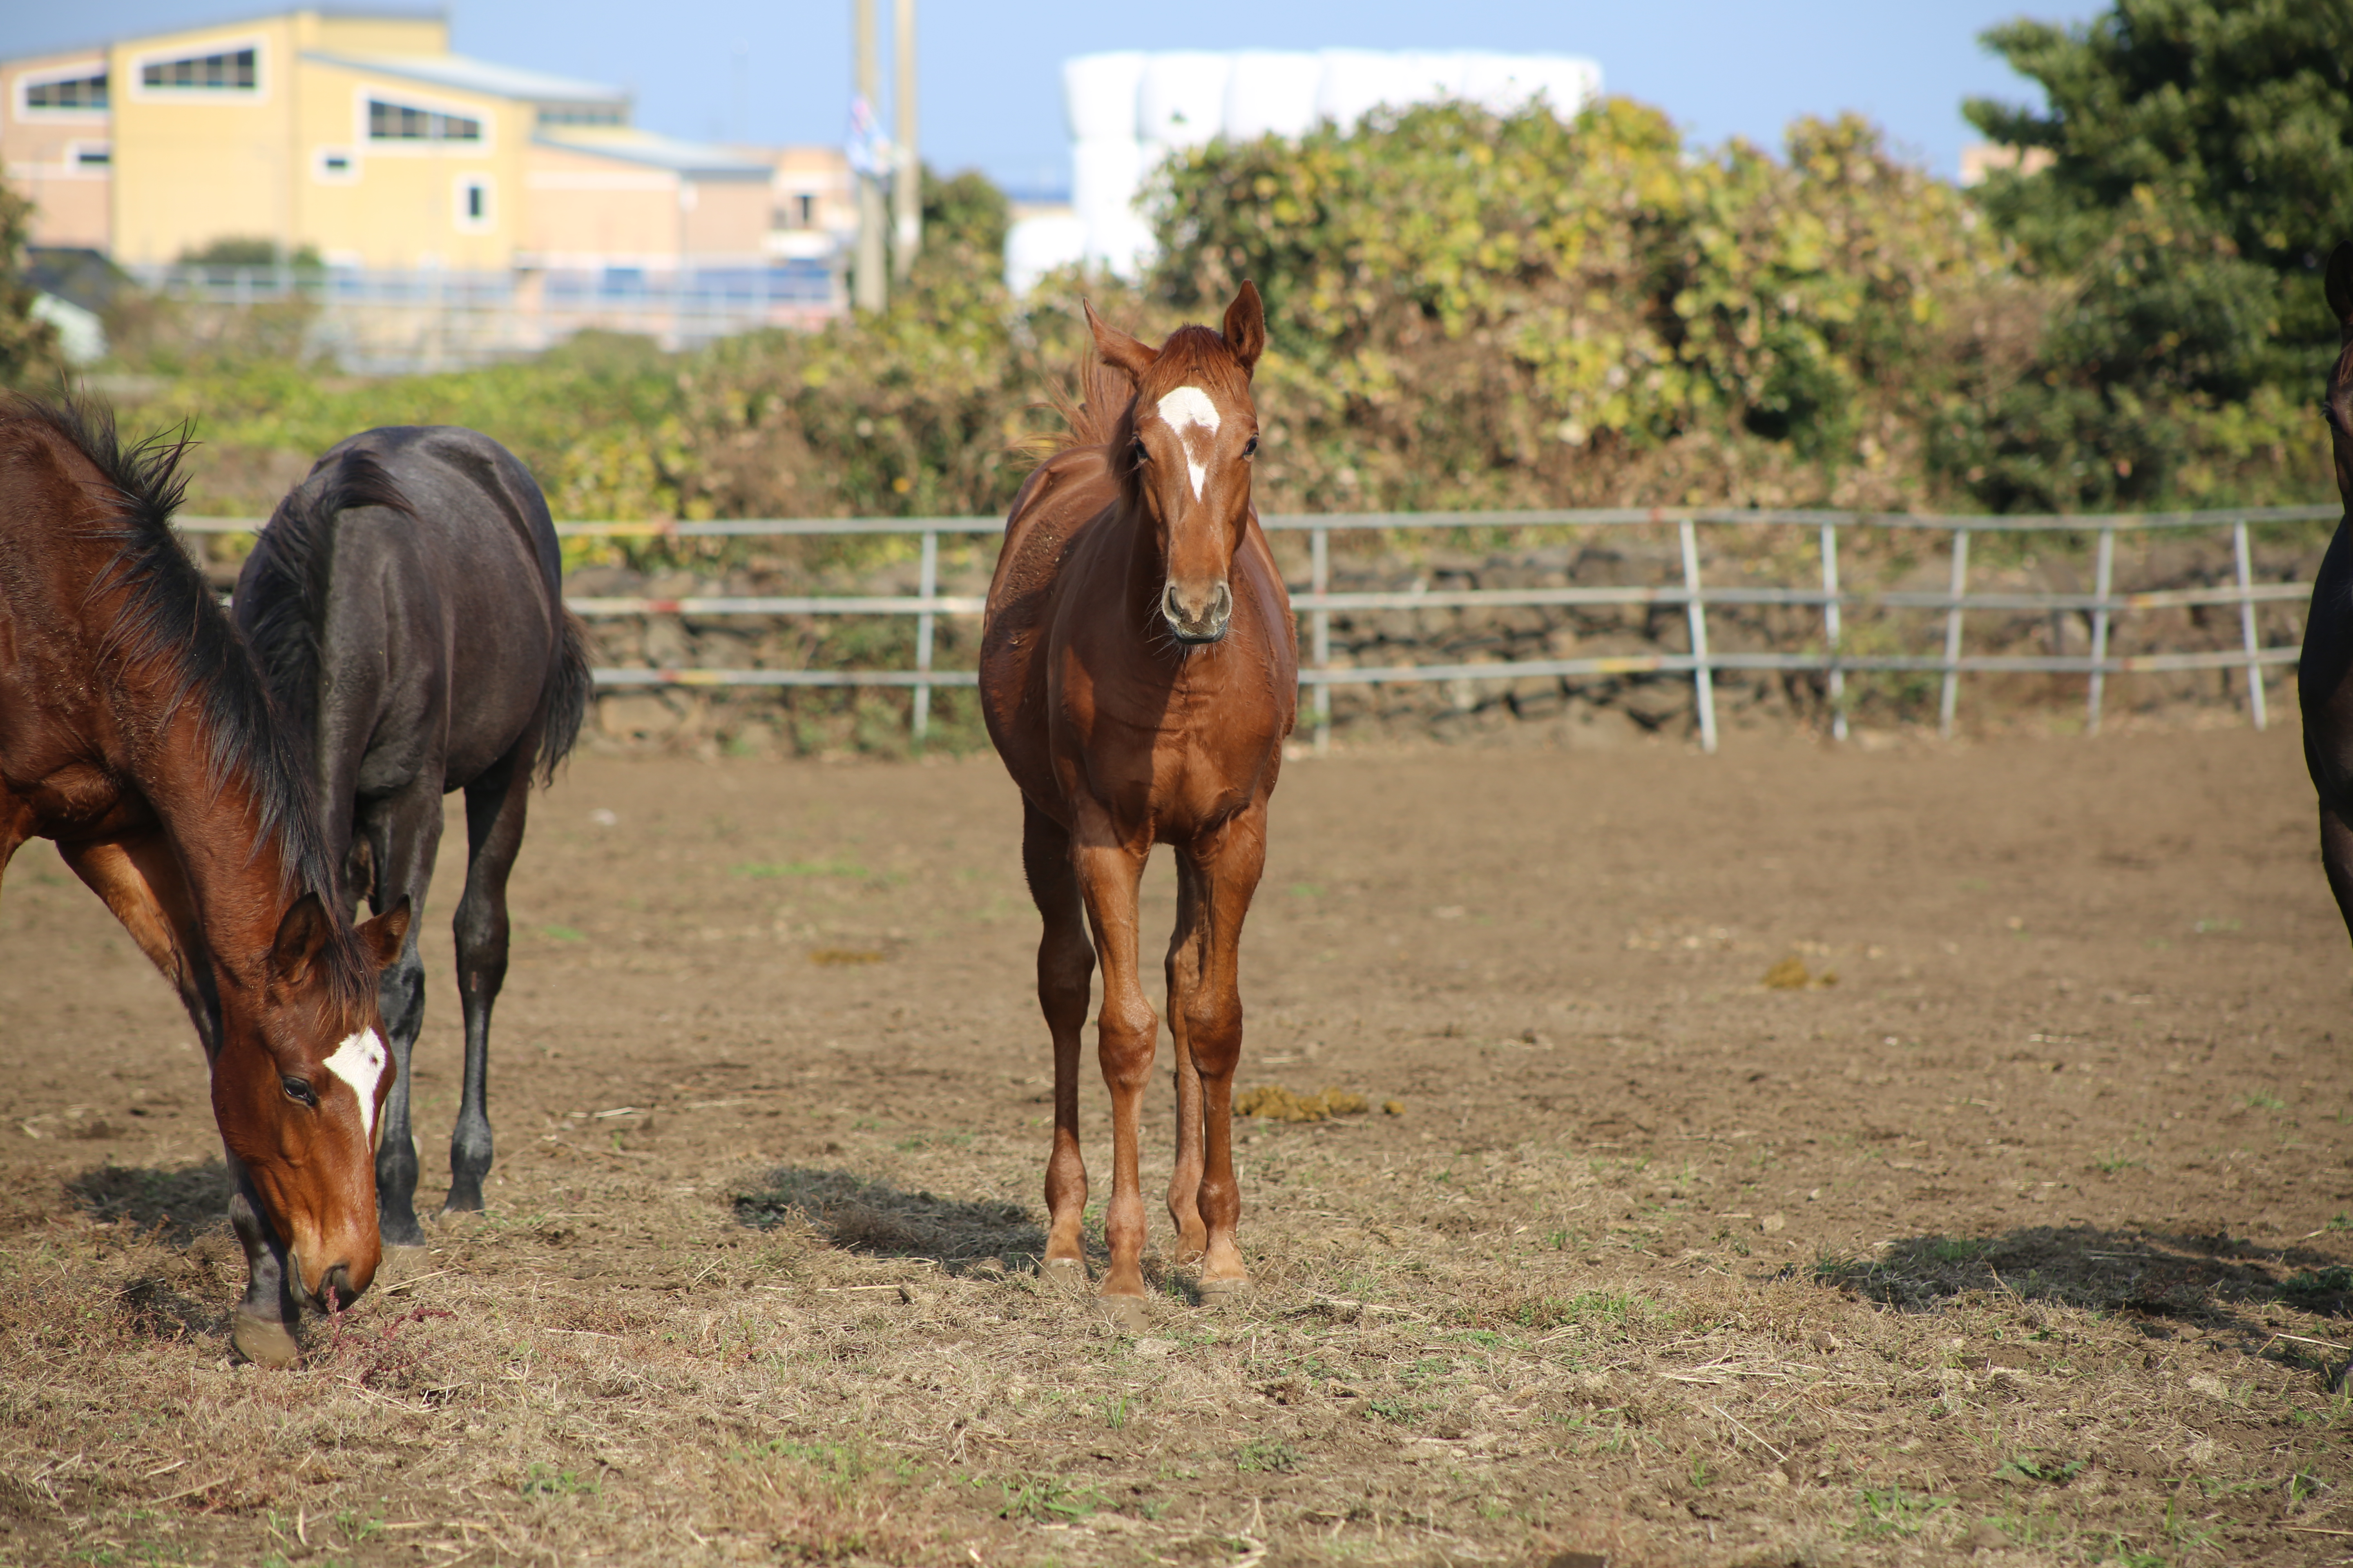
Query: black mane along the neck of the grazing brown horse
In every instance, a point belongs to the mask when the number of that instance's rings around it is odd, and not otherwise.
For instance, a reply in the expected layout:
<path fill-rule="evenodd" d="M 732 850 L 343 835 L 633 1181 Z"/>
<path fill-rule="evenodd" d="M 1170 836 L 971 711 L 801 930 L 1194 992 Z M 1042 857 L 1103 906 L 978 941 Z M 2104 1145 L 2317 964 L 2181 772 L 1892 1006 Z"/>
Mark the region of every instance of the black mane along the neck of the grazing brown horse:
<path fill-rule="evenodd" d="M 202 569 L 172 534 L 172 512 L 188 487 L 179 473 L 188 451 L 179 437 L 151 435 L 129 447 L 111 409 L 75 397 L 0 397 L 0 423 L 33 423 L 80 451 L 101 475 L 96 501 L 106 522 L 87 536 L 115 545 L 115 559 L 89 595 L 122 592 L 106 628 L 101 663 L 129 661 L 169 672 L 167 708 L 195 705 L 205 719 L 205 764 L 214 790 L 245 780 L 261 816 L 259 842 L 278 849 L 287 893 L 334 898 L 311 773 L 280 719 L 252 651 L 221 611 Z M 355 954 L 353 954 L 355 957 Z M 365 983 L 365 969 L 358 971 Z"/>

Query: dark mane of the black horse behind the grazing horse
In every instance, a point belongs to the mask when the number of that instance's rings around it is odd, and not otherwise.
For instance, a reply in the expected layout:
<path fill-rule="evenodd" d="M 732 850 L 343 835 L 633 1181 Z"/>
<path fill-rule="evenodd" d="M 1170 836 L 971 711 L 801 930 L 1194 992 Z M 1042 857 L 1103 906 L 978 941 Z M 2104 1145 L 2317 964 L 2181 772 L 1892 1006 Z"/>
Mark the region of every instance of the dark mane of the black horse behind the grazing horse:
<path fill-rule="evenodd" d="M 247 635 L 271 696 L 301 745 L 311 743 L 311 726 L 318 719 L 318 639 L 327 623 L 334 520 L 355 505 L 386 505 L 416 515 L 384 463 L 367 451 L 341 451 L 287 491 L 247 562 L 252 583 L 245 592 L 261 604 Z"/>

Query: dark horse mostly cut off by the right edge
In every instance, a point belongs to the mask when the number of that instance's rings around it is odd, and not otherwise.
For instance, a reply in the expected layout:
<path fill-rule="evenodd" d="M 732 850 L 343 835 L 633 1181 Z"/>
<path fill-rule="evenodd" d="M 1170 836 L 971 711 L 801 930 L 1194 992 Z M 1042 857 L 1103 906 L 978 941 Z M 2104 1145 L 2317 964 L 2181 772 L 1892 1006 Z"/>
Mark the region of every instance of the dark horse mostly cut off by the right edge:
<path fill-rule="evenodd" d="M 2337 313 L 2341 350 L 2322 411 L 2346 520 L 2337 524 L 2313 578 L 2304 654 L 2297 658 L 2297 705 L 2304 710 L 2304 766 L 2320 792 L 2320 863 L 2337 893 L 2337 912 L 2353 931 L 2353 242 L 2329 256 L 2327 301 Z"/>

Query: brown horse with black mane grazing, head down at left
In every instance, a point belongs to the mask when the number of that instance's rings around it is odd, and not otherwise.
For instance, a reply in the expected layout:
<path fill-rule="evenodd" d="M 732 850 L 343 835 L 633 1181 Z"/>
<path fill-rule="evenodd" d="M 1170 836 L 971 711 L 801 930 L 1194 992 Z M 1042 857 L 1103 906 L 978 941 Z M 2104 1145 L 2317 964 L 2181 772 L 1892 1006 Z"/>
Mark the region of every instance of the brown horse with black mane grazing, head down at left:
<path fill-rule="evenodd" d="M 376 969 L 409 912 L 353 929 L 322 900 L 304 759 L 172 538 L 179 454 L 125 449 L 73 402 L 0 400 L 0 870 L 54 839 L 179 990 L 238 1187 L 231 1338 L 285 1363 L 296 1291 L 348 1302 L 381 1258 Z"/>

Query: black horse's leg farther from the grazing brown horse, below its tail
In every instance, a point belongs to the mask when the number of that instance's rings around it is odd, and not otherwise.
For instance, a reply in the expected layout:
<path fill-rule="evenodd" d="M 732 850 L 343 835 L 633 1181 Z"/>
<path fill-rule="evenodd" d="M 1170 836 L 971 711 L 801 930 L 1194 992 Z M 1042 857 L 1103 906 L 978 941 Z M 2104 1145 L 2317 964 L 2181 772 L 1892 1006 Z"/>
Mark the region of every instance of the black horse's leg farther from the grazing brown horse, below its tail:
<path fill-rule="evenodd" d="M 532 729 L 487 773 L 466 785 L 466 896 L 456 903 L 456 990 L 466 1006 L 466 1091 L 449 1135 L 449 1201 L 480 1208 L 489 1175 L 489 1009 L 506 985 L 506 877 L 522 849 L 522 816 L 532 799 Z"/>

